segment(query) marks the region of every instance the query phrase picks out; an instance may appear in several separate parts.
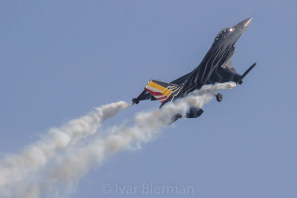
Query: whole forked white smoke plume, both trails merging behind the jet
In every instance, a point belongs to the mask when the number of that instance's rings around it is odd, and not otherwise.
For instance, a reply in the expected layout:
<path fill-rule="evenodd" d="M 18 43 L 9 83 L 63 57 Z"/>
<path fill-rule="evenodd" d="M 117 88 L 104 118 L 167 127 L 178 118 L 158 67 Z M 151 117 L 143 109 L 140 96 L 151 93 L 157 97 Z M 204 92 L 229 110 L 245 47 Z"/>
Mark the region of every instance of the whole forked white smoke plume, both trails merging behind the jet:
<path fill-rule="evenodd" d="M 158 137 L 162 128 L 171 123 L 172 116 L 185 116 L 191 106 L 201 108 L 217 91 L 235 86 L 233 82 L 203 86 L 160 109 L 137 113 L 131 123 L 105 130 L 100 128 L 101 123 L 127 108 L 126 102 L 103 105 L 89 115 L 52 128 L 20 154 L 0 159 L 0 195 L 39 198 L 72 192 L 93 166 L 120 150 L 141 148 Z"/>

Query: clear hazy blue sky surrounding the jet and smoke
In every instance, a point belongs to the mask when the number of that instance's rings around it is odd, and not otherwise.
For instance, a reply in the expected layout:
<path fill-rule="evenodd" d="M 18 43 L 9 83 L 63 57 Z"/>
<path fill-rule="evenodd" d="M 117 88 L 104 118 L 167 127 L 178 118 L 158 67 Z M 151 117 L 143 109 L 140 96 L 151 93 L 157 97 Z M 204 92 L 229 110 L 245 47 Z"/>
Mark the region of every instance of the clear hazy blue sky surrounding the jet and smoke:
<path fill-rule="evenodd" d="M 233 57 L 237 72 L 198 119 L 178 120 L 141 150 L 93 169 L 66 197 L 101 186 L 193 186 L 189 198 L 297 197 L 297 4 L 293 0 L 54 0 L 0 3 L 0 153 L 19 152 L 94 106 L 137 97 L 148 80 L 195 68 L 225 27 L 255 14 Z M 156 107 L 141 101 L 105 126 Z"/>

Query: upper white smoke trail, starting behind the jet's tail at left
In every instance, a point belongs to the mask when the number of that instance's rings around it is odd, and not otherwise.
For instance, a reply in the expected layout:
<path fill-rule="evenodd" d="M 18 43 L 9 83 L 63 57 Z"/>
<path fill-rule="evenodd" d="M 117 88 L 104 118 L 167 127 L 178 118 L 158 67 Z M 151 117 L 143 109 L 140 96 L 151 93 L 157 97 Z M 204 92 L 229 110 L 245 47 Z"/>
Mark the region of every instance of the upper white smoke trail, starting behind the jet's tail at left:
<path fill-rule="evenodd" d="M 15 187 L 29 174 L 45 166 L 58 152 L 74 147 L 82 139 L 96 133 L 104 120 L 127 107 L 124 101 L 97 107 L 89 115 L 71 120 L 60 128 L 50 129 L 40 141 L 26 147 L 20 154 L 8 154 L 0 159 L 0 197 L 9 196 L 9 191 L 14 191 L 10 189 L 11 186 Z"/>

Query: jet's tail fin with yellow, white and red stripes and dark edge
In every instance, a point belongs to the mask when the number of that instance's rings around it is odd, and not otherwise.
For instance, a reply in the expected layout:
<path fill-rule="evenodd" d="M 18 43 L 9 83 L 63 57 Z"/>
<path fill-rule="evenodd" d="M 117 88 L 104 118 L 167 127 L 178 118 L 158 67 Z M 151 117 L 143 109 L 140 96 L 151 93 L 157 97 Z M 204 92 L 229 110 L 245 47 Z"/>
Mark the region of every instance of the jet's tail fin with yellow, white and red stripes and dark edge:
<path fill-rule="evenodd" d="M 175 84 L 150 80 L 145 87 L 145 90 L 147 90 L 154 98 L 164 103 L 177 87 L 178 85 Z"/>

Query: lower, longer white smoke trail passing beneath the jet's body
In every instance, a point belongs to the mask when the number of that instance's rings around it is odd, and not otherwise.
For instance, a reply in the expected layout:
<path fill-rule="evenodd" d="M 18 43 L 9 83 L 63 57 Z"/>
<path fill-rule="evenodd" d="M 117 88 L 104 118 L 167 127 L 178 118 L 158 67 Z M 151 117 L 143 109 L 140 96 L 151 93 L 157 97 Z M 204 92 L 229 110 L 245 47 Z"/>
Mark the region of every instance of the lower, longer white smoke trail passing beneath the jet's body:
<path fill-rule="evenodd" d="M 92 139 L 85 139 L 84 144 L 65 149 L 52 158 L 43 169 L 26 177 L 26 180 L 21 180 L 24 178 L 19 178 L 18 182 L 8 180 L 12 186 L 10 190 L 13 191 L 9 191 L 6 195 L 38 198 L 47 194 L 51 197 L 60 196 L 72 191 L 92 166 L 101 164 L 104 159 L 120 150 L 137 149 L 141 144 L 153 141 L 161 133 L 162 128 L 171 123 L 173 115 L 184 116 L 191 106 L 201 108 L 209 102 L 218 90 L 232 89 L 235 86 L 236 84 L 232 82 L 203 86 L 186 98 L 164 105 L 161 109 L 140 112 L 135 116 L 131 126 L 122 124 L 113 126 L 104 133 L 97 133 Z"/>

